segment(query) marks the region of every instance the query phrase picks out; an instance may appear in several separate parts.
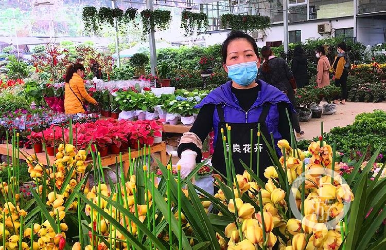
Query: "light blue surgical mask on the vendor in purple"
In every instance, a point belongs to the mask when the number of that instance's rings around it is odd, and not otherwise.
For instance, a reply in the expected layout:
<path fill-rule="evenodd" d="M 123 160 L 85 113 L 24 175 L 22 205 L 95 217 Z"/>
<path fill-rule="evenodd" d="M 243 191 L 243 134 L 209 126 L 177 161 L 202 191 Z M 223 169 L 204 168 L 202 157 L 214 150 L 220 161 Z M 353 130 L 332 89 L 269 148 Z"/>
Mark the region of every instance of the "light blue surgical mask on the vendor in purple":
<path fill-rule="evenodd" d="M 228 77 L 241 86 L 248 86 L 256 79 L 256 62 L 239 63 L 226 67 L 228 68 Z"/>

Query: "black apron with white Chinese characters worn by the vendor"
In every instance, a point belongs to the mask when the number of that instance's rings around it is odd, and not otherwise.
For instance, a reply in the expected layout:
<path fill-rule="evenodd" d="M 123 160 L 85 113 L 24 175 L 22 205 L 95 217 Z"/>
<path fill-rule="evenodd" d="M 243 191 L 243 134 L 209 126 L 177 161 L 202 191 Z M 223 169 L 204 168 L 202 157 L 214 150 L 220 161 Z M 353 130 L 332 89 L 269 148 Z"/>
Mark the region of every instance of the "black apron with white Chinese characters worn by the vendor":
<path fill-rule="evenodd" d="M 252 170 L 256 173 L 257 170 L 257 150 L 260 150 L 260 166 L 259 172 L 257 173 L 258 177 L 261 180 L 267 181 L 267 178 L 264 176 L 264 170 L 266 167 L 271 166 L 272 162 L 269 157 L 268 147 L 261 135 L 267 139 L 268 142 L 271 141 L 270 134 L 268 133 L 268 128 L 266 124 L 266 118 L 268 116 L 269 108 L 271 107 L 270 103 L 265 103 L 262 106 L 262 111 L 257 123 L 227 123 L 231 126 L 231 145 L 228 145 L 227 141 L 227 129 L 225 127 L 226 121 L 224 119 L 224 110 L 221 108 L 221 105 L 217 105 L 216 109 L 219 116 L 219 125 L 217 131 L 217 140 L 216 147 L 212 157 L 212 165 L 217 169 L 222 175 L 226 177 L 226 165 L 224 157 L 224 147 L 223 147 L 223 138 L 221 136 L 221 128 L 224 129 L 224 136 L 226 137 L 226 149 L 227 151 L 232 150 L 232 159 L 235 166 L 236 174 L 242 175 L 245 168 L 242 166 L 240 160 L 250 166 L 251 158 L 251 149 L 252 153 Z M 260 124 L 260 147 L 257 145 L 257 132 L 258 124 Z M 253 129 L 253 146 L 251 146 L 251 129 Z"/>

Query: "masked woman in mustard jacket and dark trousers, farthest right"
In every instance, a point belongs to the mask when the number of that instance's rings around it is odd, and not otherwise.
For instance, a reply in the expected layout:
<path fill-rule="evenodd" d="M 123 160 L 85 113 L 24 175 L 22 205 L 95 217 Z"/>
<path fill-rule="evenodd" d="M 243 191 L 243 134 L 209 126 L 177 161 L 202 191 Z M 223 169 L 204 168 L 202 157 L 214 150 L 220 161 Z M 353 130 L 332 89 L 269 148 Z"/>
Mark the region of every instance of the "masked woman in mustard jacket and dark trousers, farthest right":
<path fill-rule="evenodd" d="M 340 87 L 342 94 L 335 98 L 335 104 L 345 104 L 347 99 L 347 77 L 348 70 L 351 69 L 350 60 L 346 53 L 347 46 L 346 43 L 341 42 L 337 44 L 338 54 L 335 56 L 334 63 L 332 68 L 335 70 L 335 85 Z M 339 102 L 340 100 L 340 102 Z"/>

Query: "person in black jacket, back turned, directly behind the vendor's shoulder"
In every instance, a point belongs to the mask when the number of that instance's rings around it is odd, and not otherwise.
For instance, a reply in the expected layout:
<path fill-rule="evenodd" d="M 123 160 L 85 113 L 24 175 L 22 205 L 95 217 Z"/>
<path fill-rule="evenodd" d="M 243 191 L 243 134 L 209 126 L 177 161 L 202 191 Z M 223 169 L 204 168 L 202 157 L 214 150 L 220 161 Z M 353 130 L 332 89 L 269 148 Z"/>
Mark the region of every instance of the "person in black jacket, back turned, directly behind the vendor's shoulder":
<path fill-rule="evenodd" d="M 287 62 L 283 58 L 276 57 L 269 46 L 261 48 L 261 55 L 264 57 L 264 62 L 259 74 L 260 79 L 283 91 L 292 105 L 296 107 L 296 81 Z M 300 128 L 299 118 L 297 118 L 296 113 L 292 114 L 292 122 L 296 136 L 303 136 L 304 131 Z"/>

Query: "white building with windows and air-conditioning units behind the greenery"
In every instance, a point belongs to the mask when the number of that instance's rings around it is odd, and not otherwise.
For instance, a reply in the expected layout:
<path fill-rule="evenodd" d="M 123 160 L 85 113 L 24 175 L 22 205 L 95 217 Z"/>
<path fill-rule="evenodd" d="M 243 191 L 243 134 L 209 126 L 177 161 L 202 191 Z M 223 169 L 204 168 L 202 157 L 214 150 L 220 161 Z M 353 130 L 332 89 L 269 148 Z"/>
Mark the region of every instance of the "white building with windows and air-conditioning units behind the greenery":
<path fill-rule="evenodd" d="M 229 30 L 221 29 L 224 13 L 261 14 L 271 17 L 271 27 L 265 32 L 253 32 L 259 47 L 278 46 L 284 40 L 284 0 L 205 1 L 201 11 L 208 14 L 207 45 L 223 41 Z M 386 43 L 386 0 L 287 0 L 289 43 L 305 42 L 309 38 L 345 35 L 364 45 Z"/>

